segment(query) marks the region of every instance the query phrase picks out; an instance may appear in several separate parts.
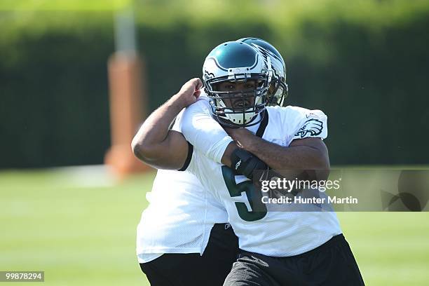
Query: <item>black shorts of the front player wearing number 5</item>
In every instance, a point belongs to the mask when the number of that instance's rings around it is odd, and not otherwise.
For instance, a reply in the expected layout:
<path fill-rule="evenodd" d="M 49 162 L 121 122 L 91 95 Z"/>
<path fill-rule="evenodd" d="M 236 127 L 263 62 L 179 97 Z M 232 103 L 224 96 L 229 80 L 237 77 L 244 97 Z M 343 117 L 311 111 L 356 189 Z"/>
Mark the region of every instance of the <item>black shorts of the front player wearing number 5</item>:
<path fill-rule="evenodd" d="M 287 242 L 286 242 L 287 243 Z M 292 257 L 267 257 L 240 250 L 225 286 L 365 285 L 342 234 Z"/>

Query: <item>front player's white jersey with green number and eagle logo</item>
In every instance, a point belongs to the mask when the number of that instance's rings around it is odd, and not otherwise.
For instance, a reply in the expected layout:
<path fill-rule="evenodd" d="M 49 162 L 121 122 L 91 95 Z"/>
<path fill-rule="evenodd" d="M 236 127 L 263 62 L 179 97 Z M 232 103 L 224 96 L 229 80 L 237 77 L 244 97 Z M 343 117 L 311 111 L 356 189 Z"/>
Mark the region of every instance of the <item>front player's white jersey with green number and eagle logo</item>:
<path fill-rule="evenodd" d="M 213 196 L 222 201 L 229 215 L 229 223 L 238 236 L 240 249 L 267 256 L 287 257 L 313 250 L 341 233 L 335 212 L 268 210 L 264 217 L 255 217 L 243 185 L 241 188 L 235 187 L 247 178 L 231 176 L 231 168 L 204 156 L 198 150 L 198 142 L 191 140 L 195 137 L 193 132 L 198 132 L 199 137 L 202 136 L 203 128 L 196 127 L 198 121 L 192 120 L 196 114 L 210 116 L 207 101 L 200 100 L 193 104 L 181 119 L 182 132 L 194 146 L 187 170 L 193 172 Z M 263 139 L 283 147 L 288 147 L 294 139 L 324 139 L 327 137 L 327 116 L 322 111 L 301 107 L 267 107 L 264 120 L 259 123 L 256 133 Z M 210 132 L 207 133 L 207 136 L 209 135 Z M 241 213 L 236 203 L 242 203 Z M 243 204 L 246 206 L 245 210 Z"/>

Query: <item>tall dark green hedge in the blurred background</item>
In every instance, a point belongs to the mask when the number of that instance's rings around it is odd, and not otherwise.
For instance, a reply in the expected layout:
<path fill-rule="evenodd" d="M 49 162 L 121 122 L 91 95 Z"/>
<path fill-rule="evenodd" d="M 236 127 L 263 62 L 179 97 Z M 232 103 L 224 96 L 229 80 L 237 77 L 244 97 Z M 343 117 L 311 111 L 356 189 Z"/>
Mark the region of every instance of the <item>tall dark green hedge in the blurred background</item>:
<path fill-rule="evenodd" d="M 218 43 L 259 36 L 285 58 L 288 103 L 329 116 L 332 163 L 429 162 L 428 1 L 258 3 L 137 5 L 150 109 L 200 76 Z M 0 168 L 102 163 L 112 19 L 0 13 Z"/>

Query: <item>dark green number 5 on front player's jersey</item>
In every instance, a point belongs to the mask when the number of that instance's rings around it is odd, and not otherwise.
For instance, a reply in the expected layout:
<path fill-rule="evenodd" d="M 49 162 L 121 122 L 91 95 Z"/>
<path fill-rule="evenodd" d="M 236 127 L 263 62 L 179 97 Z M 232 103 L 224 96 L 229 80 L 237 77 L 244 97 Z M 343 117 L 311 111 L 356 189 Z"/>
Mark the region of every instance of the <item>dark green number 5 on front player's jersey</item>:
<path fill-rule="evenodd" d="M 246 193 L 247 200 L 252 210 L 247 210 L 245 203 L 236 202 L 238 215 L 246 222 L 254 222 L 266 216 L 266 205 L 262 203 L 261 192 L 257 190 L 251 181 L 236 183 L 236 175 L 233 170 L 227 166 L 222 166 L 222 175 L 226 188 L 231 197 L 240 197 L 242 193 Z"/>

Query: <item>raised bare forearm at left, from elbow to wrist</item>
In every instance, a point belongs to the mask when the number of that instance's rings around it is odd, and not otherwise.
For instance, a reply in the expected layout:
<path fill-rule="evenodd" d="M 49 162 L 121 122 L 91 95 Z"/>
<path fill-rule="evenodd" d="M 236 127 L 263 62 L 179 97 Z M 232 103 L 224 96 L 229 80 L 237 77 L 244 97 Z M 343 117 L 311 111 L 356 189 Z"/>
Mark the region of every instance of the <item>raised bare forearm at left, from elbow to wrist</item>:
<path fill-rule="evenodd" d="M 161 143 L 168 136 L 168 128 L 186 104 L 175 95 L 152 112 L 132 139 L 132 151 L 142 161 L 150 161 L 162 154 Z"/>

